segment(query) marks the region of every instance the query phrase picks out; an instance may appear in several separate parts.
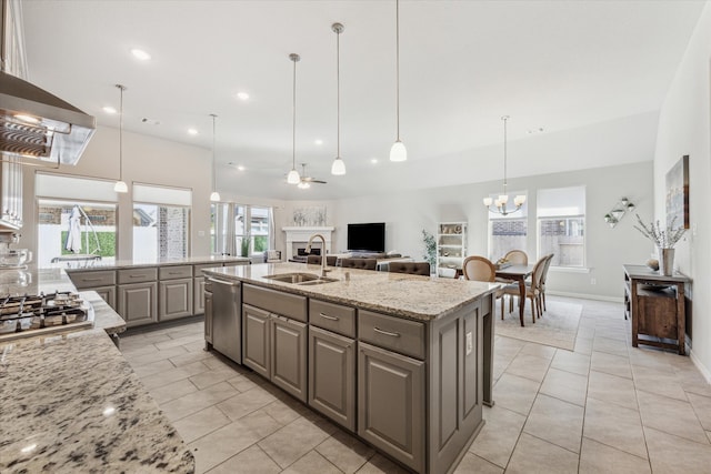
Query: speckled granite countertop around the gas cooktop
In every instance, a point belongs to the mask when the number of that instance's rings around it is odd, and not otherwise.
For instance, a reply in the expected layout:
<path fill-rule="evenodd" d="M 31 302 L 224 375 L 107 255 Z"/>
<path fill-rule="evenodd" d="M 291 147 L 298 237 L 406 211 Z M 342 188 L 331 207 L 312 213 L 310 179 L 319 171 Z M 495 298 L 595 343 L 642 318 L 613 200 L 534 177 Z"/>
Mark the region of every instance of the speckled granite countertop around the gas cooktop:
<path fill-rule="evenodd" d="M 76 291 L 63 270 L 31 275 L 16 292 Z M 96 292 L 80 295 L 93 306 L 93 329 L 0 342 L 0 472 L 194 472 L 188 446 L 107 336 L 126 322 Z"/>

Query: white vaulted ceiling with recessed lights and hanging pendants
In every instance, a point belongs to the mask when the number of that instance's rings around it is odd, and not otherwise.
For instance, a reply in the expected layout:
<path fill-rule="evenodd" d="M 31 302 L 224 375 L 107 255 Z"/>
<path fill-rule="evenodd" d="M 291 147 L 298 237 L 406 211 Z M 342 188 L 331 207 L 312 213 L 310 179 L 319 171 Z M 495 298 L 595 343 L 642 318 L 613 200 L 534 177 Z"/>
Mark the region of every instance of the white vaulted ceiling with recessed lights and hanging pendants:
<path fill-rule="evenodd" d="M 632 149 L 627 159 L 639 161 L 653 148 L 655 113 L 703 6 L 402 0 L 401 135 L 409 160 L 392 163 L 394 0 L 22 2 L 32 82 L 107 127 L 118 127 L 118 117 L 102 108 L 118 108 L 113 85 L 122 83 L 126 130 L 206 149 L 212 144 L 209 114 L 216 113 L 220 190 L 283 199 L 379 192 L 404 181 L 425 186 L 499 179 L 503 114 L 511 115 L 510 175 L 564 169 L 550 151 L 560 142 L 554 138 L 574 140 L 587 128 L 618 130 Z M 330 175 L 336 21 L 346 27 L 344 177 Z M 133 48 L 151 59 L 137 60 Z M 284 182 L 292 161 L 292 52 L 302 58 L 297 167 L 306 162 L 312 177 L 328 181 L 306 191 Z M 198 134 L 188 134 L 190 128 Z M 565 167 L 620 161 L 583 155 Z"/>

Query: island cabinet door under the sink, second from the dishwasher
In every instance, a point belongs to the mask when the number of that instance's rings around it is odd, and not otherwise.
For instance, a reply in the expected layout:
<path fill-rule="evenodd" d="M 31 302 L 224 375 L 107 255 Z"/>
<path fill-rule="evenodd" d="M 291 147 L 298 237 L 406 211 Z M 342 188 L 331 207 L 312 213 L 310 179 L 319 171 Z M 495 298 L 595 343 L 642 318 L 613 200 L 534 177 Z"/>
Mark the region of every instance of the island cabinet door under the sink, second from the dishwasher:
<path fill-rule="evenodd" d="M 307 402 L 307 325 L 271 315 L 271 381 Z"/>

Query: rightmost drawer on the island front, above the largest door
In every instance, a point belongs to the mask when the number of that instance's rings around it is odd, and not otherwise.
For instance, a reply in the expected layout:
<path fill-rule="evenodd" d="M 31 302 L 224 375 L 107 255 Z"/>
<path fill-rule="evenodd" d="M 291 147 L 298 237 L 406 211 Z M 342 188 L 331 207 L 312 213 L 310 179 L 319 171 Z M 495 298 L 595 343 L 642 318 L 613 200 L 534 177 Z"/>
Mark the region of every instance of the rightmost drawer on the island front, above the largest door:
<path fill-rule="evenodd" d="M 424 359 L 424 324 L 360 310 L 358 336 L 401 354 Z"/>

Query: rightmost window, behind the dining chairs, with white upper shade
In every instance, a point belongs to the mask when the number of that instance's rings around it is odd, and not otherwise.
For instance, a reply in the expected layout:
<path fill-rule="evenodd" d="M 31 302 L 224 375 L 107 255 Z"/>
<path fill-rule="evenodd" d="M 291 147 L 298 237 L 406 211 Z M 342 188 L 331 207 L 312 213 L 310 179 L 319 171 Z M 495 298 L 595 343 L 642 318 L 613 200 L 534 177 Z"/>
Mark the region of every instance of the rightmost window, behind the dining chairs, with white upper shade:
<path fill-rule="evenodd" d="M 539 256 L 553 254 L 554 266 L 585 264 L 585 188 L 538 192 Z"/>

